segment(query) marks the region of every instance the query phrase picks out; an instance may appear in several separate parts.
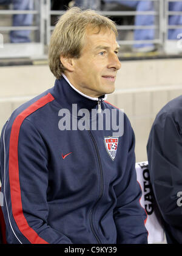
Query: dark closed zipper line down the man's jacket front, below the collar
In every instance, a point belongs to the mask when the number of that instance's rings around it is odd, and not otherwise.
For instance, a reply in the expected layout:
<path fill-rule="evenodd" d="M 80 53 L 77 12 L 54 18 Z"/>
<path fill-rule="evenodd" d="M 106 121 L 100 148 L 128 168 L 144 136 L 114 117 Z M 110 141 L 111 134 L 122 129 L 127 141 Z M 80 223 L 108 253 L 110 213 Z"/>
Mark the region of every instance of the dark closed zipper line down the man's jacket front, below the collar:
<path fill-rule="evenodd" d="M 90 130 L 89 130 L 89 134 L 90 134 L 90 137 L 92 138 L 93 144 L 95 146 L 95 150 L 96 150 L 96 154 L 97 154 L 98 162 L 99 162 L 99 173 L 100 173 L 100 177 L 101 177 L 101 184 L 100 184 L 101 185 L 101 191 L 100 191 L 100 194 L 99 194 L 99 198 L 95 202 L 94 206 L 92 207 L 92 210 L 90 210 L 90 226 L 91 226 L 93 235 L 95 236 L 96 240 L 98 241 L 99 244 L 101 244 L 101 241 L 99 240 L 98 236 L 96 235 L 95 228 L 93 227 L 93 216 L 92 216 L 92 214 L 93 214 L 93 209 L 95 209 L 95 207 L 96 207 L 96 204 L 98 203 L 98 201 L 103 196 L 103 190 L 104 190 L 104 186 L 103 186 L 103 168 L 102 168 L 102 165 L 101 165 L 101 158 L 99 156 L 99 151 L 98 151 L 98 147 L 96 145 L 96 141 L 95 141 L 95 139 L 94 139 Z"/>

